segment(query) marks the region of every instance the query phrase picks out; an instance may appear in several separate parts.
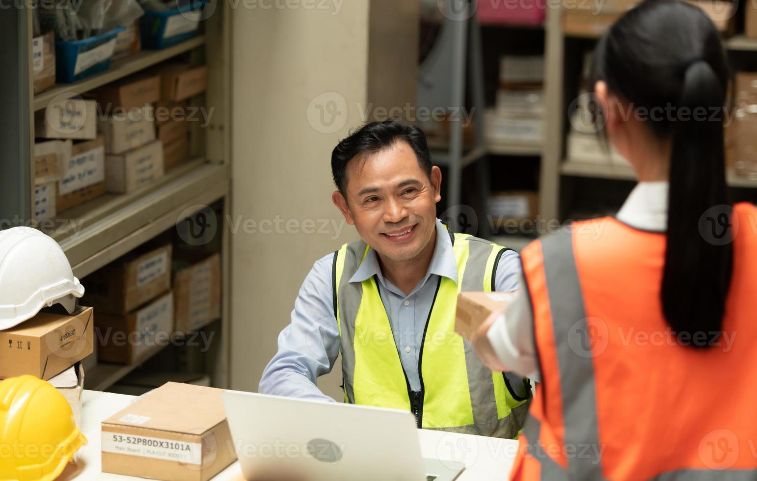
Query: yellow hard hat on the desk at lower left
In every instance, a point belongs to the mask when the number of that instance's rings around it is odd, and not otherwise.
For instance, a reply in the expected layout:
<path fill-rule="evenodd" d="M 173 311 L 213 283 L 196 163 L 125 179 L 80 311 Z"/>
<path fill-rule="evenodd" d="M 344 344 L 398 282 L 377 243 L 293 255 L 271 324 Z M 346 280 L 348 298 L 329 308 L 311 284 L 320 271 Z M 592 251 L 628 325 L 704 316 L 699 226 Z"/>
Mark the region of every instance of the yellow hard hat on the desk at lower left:
<path fill-rule="evenodd" d="M 51 481 L 86 443 L 51 383 L 34 376 L 0 382 L 0 480 Z"/>

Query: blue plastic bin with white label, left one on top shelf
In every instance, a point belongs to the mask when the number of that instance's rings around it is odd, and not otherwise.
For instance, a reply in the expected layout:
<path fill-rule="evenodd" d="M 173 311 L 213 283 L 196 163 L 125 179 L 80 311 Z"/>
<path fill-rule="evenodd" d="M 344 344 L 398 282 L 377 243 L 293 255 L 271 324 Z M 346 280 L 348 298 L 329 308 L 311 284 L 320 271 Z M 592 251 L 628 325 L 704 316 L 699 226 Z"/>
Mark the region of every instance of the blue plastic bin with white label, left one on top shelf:
<path fill-rule="evenodd" d="M 107 70 L 111 66 L 115 38 L 123 30 L 123 26 L 120 26 L 85 40 L 55 42 L 55 81 L 76 82 Z M 114 44 L 107 46 L 111 40 Z"/>

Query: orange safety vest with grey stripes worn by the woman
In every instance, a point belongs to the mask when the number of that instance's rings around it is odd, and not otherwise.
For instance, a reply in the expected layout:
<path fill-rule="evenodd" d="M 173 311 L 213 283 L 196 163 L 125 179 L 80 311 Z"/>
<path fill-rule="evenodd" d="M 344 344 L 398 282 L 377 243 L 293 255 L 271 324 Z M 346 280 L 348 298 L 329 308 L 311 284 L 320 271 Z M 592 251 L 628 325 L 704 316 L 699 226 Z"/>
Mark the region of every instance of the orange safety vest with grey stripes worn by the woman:
<path fill-rule="evenodd" d="M 708 349 L 662 315 L 665 234 L 595 219 L 522 251 L 542 382 L 511 479 L 757 479 L 757 209 L 734 211 Z"/>

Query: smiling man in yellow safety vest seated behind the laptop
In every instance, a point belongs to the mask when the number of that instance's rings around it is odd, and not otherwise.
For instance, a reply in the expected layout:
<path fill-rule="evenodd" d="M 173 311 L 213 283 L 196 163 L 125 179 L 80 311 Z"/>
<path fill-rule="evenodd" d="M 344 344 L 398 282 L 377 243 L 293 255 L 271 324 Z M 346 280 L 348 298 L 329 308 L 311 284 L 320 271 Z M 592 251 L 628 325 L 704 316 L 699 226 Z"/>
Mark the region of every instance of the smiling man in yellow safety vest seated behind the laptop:
<path fill-rule="evenodd" d="M 423 132 L 369 123 L 335 147 L 332 200 L 362 241 L 313 265 L 260 393 L 332 401 L 316 386 L 341 354 L 344 401 L 412 411 L 418 427 L 515 438 L 528 380 L 493 373 L 454 333 L 460 291 L 511 291 L 516 252 L 436 218 L 441 171 Z"/>

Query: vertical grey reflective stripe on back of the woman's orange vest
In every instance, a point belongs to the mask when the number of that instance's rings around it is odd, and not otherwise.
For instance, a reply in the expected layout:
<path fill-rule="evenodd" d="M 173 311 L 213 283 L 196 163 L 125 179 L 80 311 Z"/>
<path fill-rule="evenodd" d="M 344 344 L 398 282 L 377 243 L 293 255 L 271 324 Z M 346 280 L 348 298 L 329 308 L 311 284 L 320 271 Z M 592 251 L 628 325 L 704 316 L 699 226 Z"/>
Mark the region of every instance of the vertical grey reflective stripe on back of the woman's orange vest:
<path fill-rule="evenodd" d="M 541 251 L 562 393 L 563 443 L 574 450 L 593 446 L 589 454 L 569 458 L 568 471 L 572 479 L 603 479 L 602 460 L 596 455 L 601 452 L 597 389 L 572 232 L 543 237 Z"/>

